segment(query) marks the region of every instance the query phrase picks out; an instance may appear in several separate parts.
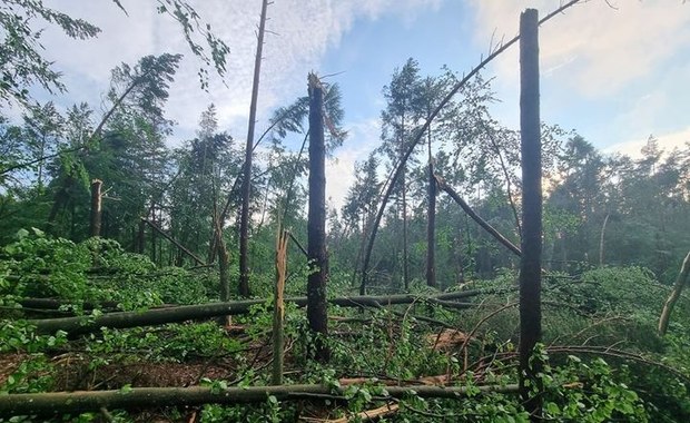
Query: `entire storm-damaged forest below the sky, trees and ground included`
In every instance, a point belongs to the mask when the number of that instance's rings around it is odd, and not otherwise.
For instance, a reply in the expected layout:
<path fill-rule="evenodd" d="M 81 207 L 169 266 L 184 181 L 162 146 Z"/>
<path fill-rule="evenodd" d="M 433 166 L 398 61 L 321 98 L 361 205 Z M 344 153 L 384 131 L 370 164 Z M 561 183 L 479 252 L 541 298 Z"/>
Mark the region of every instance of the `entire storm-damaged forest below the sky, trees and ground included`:
<path fill-rule="evenodd" d="M 188 2 L 152 3 L 200 89 L 233 77 Z M 267 0 L 247 134 L 211 104 L 175 147 L 181 52 L 112 69 L 102 105 L 38 102 L 69 87 L 30 22 L 99 29 L 4 1 L 0 422 L 690 421 L 690 141 L 604 154 L 540 120 L 539 26 L 574 3 L 515 17 L 471 70 L 391 69 L 334 207 L 347 94 L 308 73 L 256 119 Z M 511 48 L 520 128 L 484 69 Z"/>

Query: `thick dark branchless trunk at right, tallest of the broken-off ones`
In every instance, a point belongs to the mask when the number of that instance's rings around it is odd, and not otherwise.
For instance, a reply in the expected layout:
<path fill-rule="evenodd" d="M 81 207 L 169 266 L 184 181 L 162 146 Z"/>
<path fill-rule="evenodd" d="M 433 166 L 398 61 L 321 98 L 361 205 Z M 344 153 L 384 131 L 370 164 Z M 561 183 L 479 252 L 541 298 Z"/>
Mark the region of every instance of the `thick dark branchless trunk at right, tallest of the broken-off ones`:
<path fill-rule="evenodd" d="M 520 131 L 522 150 L 522 259 L 520 262 L 520 393 L 532 421 L 541 421 L 538 374 L 530 360 L 541 340 L 542 164 L 539 110 L 539 18 L 520 16 Z M 529 381 L 529 384 L 525 383 Z"/>

